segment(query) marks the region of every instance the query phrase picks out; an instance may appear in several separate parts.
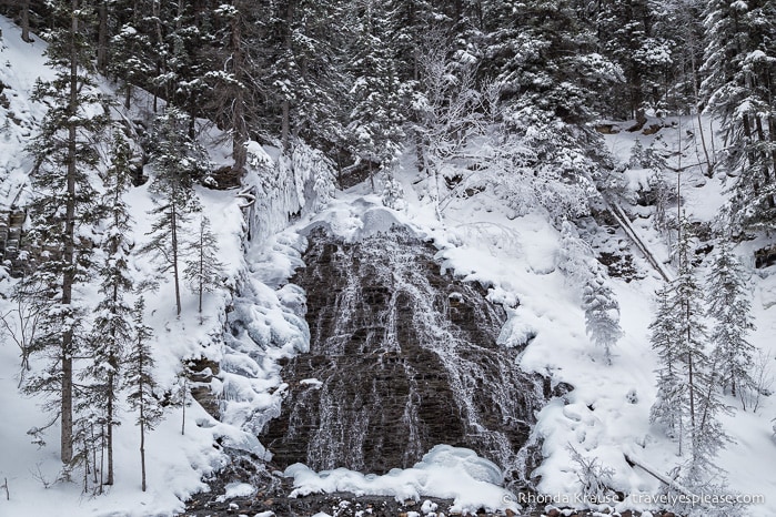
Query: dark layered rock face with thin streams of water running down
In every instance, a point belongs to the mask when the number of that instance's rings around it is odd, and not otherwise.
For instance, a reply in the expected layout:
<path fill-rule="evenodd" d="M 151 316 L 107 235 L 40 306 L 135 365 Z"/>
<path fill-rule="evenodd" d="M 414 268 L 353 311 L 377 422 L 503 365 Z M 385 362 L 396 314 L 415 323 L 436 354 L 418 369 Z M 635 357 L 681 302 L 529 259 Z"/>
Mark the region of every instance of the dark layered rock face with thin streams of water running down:
<path fill-rule="evenodd" d="M 260 436 L 274 463 L 382 474 L 450 444 L 522 478 L 546 395 L 496 345 L 501 307 L 406 233 L 310 241 L 292 281 L 308 293 L 311 351 L 284 365 L 282 415 Z"/>

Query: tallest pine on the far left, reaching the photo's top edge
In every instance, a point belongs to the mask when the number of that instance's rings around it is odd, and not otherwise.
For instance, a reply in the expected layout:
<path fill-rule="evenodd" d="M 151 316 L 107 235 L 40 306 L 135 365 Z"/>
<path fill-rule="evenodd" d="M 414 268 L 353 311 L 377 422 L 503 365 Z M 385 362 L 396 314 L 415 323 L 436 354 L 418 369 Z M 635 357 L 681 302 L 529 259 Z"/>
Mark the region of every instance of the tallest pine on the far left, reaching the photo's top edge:
<path fill-rule="evenodd" d="M 49 63 L 57 70 L 54 80 L 39 83 L 34 92 L 39 100 L 49 99 L 51 108 L 31 148 L 37 194 L 30 207 L 30 237 L 43 260 L 28 278 L 46 291 L 49 308 L 34 348 L 50 361 L 47 372 L 31 378 L 27 391 L 44 391 L 57 399 L 61 459 L 69 464 L 73 459 L 73 358 L 84 334 L 83 307 L 75 287 L 88 277 L 92 243 L 87 235 L 95 220 L 95 143 L 107 110 L 85 73 L 93 54 L 87 34 L 92 23 L 90 6 L 60 0 L 52 2 L 52 8 L 70 24 L 54 29 L 47 50 Z"/>

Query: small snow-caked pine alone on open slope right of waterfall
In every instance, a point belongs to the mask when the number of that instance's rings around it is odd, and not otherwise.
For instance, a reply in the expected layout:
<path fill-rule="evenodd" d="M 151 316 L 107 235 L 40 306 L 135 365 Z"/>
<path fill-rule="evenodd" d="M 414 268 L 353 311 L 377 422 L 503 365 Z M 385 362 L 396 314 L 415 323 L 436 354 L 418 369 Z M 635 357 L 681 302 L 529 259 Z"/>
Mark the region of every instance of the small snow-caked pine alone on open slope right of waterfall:
<path fill-rule="evenodd" d="M 619 304 L 606 284 L 605 271 L 595 261 L 582 290 L 582 308 L 585 310 L 585 328 L 589 338 L 604 349 L 606 364 L 612 364 L 612 347 L 623 334 L 619 328 Z"/>

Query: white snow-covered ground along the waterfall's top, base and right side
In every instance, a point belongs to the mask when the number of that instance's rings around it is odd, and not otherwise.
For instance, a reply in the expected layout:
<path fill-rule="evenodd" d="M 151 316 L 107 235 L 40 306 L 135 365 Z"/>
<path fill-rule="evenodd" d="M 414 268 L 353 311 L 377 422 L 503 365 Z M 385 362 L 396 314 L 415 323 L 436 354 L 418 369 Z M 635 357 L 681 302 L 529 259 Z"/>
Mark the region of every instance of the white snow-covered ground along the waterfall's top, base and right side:
<path fill-rule="evenodd" d="M 672 132 L 678 134 L 671 128 L 672 122 L 678 126 L 677 120 L 663 121 L 668 128 L 657 136 L 619 133 L 608 136 L 607 143 L 625 162 L 637 139 L 644 146 L 657 139 L 658 145 L 671 149 L 677 146 Z M 683 123 L 688 124 L 688 121 Z M 686 142 L 684 145 L 684 166 L 694 159 L 697 163 L 695 143 L 689 148 Z M 671 160 L 669 165 L 677 166 Z M 647 173 L 645 170 L 625 172 L 634 190 Z M 505 305 L 510 320 L 502 337 L 506 343 L 510 334 L 518 341 L 521 336 L 536 335 L 516 366 L 547 375 L 554 383 L 565 382 L 575 387 L 565 399 L 551 402 L 538 415 L 536 433 L 544 443 L 545 460 L 536 474 L 542 477 L 538 488 L 546 496 L 545 500 L 558 501 L 558 506 L 574 506 L 580 501 L 581 487 L 571 445 L 583 456 L 597 458 L 604 467 L 613 469 L 612 486 L 627 496 L 624 501 L 613 504 L 616 509 L 648 510 L 667 506 L 652 497 L 659 491 L 659 481 L 644 469 L 632 467 L 625 458 L 627 454 L 662 474 L 667 474 L 683 459 L 677 456 L 676 444 L 651 426 L 648 419 L 655 401 L 658 365 L 649 345 L 647 326 L 654 314 L 654 292 L 663 282 L 659 275 L 637 251 L 633 251 L 636 268 L 644 277 L 629 282 L 611 278 L 621 306 L 624 335 L 614 351 L 613 365 L 607 366 L 603 352 L 585 334 L 578 292 L 556 268 L 560 234 L 546 217 L 532 213 L 515 219 L 492 200 L 475 196 L 450 204 L 443 220 L 439 221 L 432 202 L 422 199 L 422 193 L 415 190 L 419 182 L 412 166 L 405 164 L 399 176 L 407 201 L 401 212 L 381 207 L 379 196 L 371 195 L 366 185 L 359 185 L 340 193 L 314 219 L 316 222 L 302 221 L 295 227 L 325 224 L 345 239 L 359 239 L 399 223 L 419 235 L 433 239 L 440 249 L 437 258 L 443 270 L 490 285 L 490 298 Z M 719 179 L 705 179 L 699 168 L 691 166 L 681 178 L 668 179 L 672 187 L 677 180 L 682 181 L 685 210 L 696 221 L 712 221 L 724 202 Z M 636 219 L 634 226 L 654 254 L 667 261 L 668 246 L 651 221 Z M 612 242 L 625 252 L 633 249 L 623 244 L 627 240 L 619 231 L 609 237 L 609 247 Z M 752 262 L 752 243 L 745 243 L 738 250 L 746 264 Z M 667 270 L 671 271 L 669 265 Z M 770 277 L 763 280 L 758 275 L 753 276 L 753 282 L 757 331 L 752 335 L 752 342 L 773 355 L 776 352 L 770 339 L 776 326 L 773 285 Z M 727 478 L 723 485 L 742 495 L 744 501 L 756 501 L 747 509 L 747 515 L 776 515 L 776 497 L 770 497 L 776 494 L 776 481 L 765 475 L 773 469 L 776 459 L 770 423 L 776 416 L 776 403 L 773 397 L 764 397 L 757 412 L 752 413 L 742 410 L 736 399 L 725 402 L 732 408 L 724 422 L 733 442 L 717 460 Z M 372 487 L 376 494 L 393 494 L 399 498 L 411 489 L 404 481 L 405 473 L 396 474 L 393 487 L 386 487 L 384 476 L 364 481 L 363 475 L 343 469 L 315 477 L 304 467 L 293 467 L 288 474 L 295 477 L 300 494 L 344 488 L 369 491 L 367 487 Z M 431 486 L 422 495 L 442 496 Z M 457 495 L 458 500 L 467 496 L 465 490 Z M 757 500 L 762 497 L 764 503 Z M 498 497 L 483 497 L 477 503 L 488 508 L 505 507 Z"/>

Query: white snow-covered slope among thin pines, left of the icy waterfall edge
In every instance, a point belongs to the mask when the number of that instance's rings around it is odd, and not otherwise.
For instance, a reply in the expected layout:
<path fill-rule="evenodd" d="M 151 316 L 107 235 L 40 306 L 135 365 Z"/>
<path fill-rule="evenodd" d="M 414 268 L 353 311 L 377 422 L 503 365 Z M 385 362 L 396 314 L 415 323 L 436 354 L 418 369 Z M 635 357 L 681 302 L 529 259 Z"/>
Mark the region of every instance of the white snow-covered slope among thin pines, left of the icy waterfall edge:
<path fill-rule="evenodd" d="M 44 64 L 46 45 L 41 40 L 36 37 L 34 43 L 22 42 L 20 31 L 2 17 L 0 30 L 0 81 L 8 100 L 7 105 L 0 102 L 0 210 L 8 210 L 12 204 L 23 203 L 29 194 L 28 174 L 32 163 L 26 146 L 46 110 L 44 105 L 30 101 L 30 94 L 36 81 L 51 78 L 52 71 Z M 108 84 L 102 88 L 110 89 Z M 204 189 L 198 191 L 198 196 L 213 227 L 219 229 L 220 258 L 231 278 L 226 286 L 233 286 L 244 270 L 241 201 L 234 192 Z M 148 184 L 133 189 L 128 201 L 134 217 L 133 239 L 140 245 L 148 239 L 145 232 L 150 226 Z M 137 281 L 149 278 L 151 270 L 147 258 L 137 258 L 132 264 Z M 3 296 L 0 314 L 3 315 L 13 308 L 7 298 L 12 282 L 4 278 L 0 284 Z M 195 296 L 189 292 L 184 293 L 180 318 L 175 317 L 170 285 L 162 283 L 155 293 L 147 293 L 145 297 L 148 324 L 154 332 L 155 374 L 162 391 L 175 383 L 183 361 L 203 356 L 220 359 L 225 305 L 231 297 L 226 288 L 205 298 L 203 321 L 196 314 Z M 135 415 L 122 403 L 119 407 L 121 425 L 115 429 L 114 442 L 115 485 L 107 487 L 107 494 L 100 497 L 83 494 L 82 483 L 56 483 L 62 467 L 57 446 L 58 426 L 46 432 L 49 445 L 42 447 L 32 444 L 27 434 L 28 429 L 44 425 L 50 415 L 42 413 L 42 399 L 24 397 L 18 391 L 19 352 L 10 335 L 3 334 L 0 339 L 0 485 L 7 485 L 9 497 L 7 500 L 6 491 L 0 490 L 0 515 L 172 515 L 183 509 L 182 500 L 188 495 L 206 489 L 202 476 L 225 462 L 213 447 L 215 438 L 229 436 L 234 442 L 244 438 L 239 430 L 213 420 L 198 404 L 187 408 L 188 425 L 182 436 L 181 408 L 168 408 L 164 420 L 147 436 L 149 489 L 142 493 L 140 435 Z"/>

